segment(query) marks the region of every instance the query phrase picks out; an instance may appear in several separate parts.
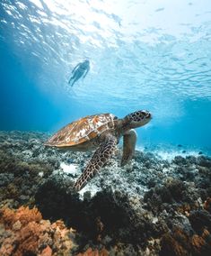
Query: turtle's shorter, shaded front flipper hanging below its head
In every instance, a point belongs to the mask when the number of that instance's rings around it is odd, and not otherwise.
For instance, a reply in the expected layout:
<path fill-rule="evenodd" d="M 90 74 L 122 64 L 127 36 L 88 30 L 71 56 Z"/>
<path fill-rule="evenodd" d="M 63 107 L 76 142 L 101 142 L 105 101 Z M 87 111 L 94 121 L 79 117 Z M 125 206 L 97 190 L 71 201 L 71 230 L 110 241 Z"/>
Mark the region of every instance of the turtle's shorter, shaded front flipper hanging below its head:
<path fill-rule="evenodd" d="M 126 165 L 133 157 L 136 148 L 136 131 L 129 130 L 123 135 L 123 155 L 121 159 L 121 166 Z"/>

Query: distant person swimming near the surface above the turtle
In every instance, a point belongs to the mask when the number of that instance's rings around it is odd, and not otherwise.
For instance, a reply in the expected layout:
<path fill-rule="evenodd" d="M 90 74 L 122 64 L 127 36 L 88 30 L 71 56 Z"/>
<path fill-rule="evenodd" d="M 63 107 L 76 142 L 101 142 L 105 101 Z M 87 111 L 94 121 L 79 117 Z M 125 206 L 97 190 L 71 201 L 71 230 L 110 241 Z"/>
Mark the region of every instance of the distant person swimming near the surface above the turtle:
<path fill-rule="evenodd" d="M 72 71 L 72 77 L 69 79 L 68 84 L 70 84 L 71 87 L 74 86 L 75 82 L 79 78 L 85 78 L 87 73 L 90 70 L 90 61 L 88 59 L 85 59 L 84 62 L 78 63 L 75 68 Z"/>

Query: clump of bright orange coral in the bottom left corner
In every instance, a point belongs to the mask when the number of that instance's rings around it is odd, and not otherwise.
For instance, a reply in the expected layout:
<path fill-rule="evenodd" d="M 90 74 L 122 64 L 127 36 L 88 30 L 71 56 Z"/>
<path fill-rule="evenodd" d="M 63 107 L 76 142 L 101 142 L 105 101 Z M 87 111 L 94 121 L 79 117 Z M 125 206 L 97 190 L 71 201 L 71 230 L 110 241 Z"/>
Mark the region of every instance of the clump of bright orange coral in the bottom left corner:
<path fill-rule="evenodd" d="M 69 254 L 73 242 L 69 235 L 73 231 L 66 229 L 62 221 L 50 224 L 42 220 L 37 208 L 20 207 L 18 210 L 4 208 L 0 210 L 2 237 L 0 238 L 0 255 L 22 256 L 35 254 L 51 256 L 54 252 Z"/>

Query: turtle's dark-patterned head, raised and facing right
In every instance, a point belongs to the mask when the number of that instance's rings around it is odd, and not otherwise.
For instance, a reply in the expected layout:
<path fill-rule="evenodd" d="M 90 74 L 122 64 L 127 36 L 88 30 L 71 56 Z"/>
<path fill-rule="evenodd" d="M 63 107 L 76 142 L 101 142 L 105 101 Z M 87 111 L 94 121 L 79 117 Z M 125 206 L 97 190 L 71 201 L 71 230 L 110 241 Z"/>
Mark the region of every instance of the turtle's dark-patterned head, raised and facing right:
<path fill-rule="evenodd" d="M 146 110 L 139 110 L 131 114 L 127 114 L 124 118 L 126 126 L 129 129 L 137 128 L 149 123 L 152 119 L 152 114 Z"/>

